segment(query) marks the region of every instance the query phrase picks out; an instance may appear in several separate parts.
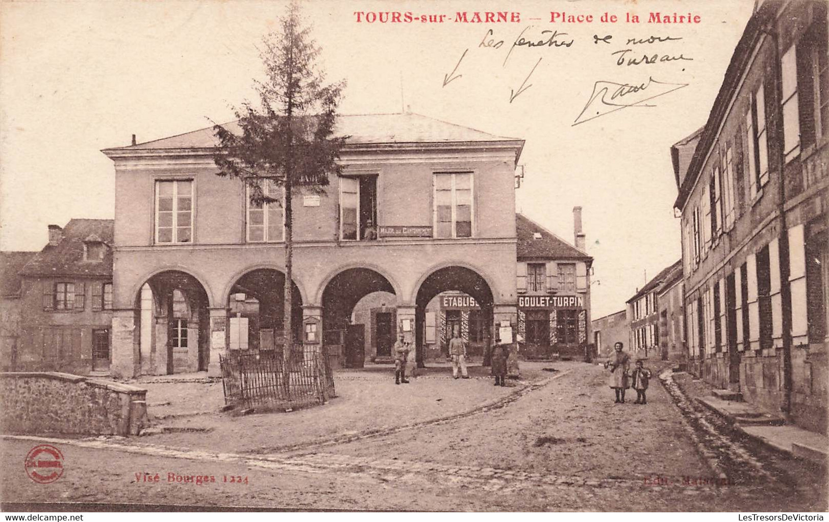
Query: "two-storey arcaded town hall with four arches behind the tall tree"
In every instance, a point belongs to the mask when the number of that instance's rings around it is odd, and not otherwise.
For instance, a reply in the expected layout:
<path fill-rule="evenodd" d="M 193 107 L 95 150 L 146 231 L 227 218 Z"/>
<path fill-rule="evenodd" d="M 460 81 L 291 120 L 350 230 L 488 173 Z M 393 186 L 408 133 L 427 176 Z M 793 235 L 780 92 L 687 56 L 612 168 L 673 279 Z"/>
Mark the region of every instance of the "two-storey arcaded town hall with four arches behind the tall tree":
<path fill-rule="evenodd" d="M 385 352 L 400 333 L 422 362 L 426 308 L 448 291 L 473 297 L 487 325 L 517 326 L 523 141 L 418 114 L 337 125 L 350 137 L 342 175 L 322 195 L 294 194 L 287 333 L 282 207 L 250 205 L 242 181 L 216 176 L 212 128 L 103 151 L 115 172 L 114 375 L 217 372 L 225 350 L 286 340 L 361 365 L 366 338 L 382 336 Z M 353 314 L 376 292 L 379 333 Z"/>

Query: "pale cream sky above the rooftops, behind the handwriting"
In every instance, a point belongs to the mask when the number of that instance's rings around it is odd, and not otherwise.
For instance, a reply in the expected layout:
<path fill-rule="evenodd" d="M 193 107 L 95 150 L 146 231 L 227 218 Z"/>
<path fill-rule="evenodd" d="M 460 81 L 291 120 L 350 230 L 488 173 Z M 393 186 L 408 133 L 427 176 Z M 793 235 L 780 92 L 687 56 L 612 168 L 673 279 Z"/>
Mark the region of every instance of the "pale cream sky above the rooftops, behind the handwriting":
<path fill-rule="evenodd" d="M 526 179 L 517 207 L 573 240 L 572 208 L 584 207 L 595 258 L 593 317 L 624 307 L 681 255 L 669 147 L 701 127 L 753 7 L 753 0 L 639 2 L 305 2 L 331 79 L 348 82 L 343 114 L 411 110 L 526 139 Z M 283 2 L 0 2 L 0 248 L 38 250 L 46 225 L 114 216 L 114 169 L 104 147 L 163 138 L 233 118 L 261 66 L 256 47 Z M 509 10 L 521 23 L 357 23 L 355 11 L 454 17 Z M 593 14 L 584 24 L 550 23 L 550 12 Z M 648 12 L 700 15 L 699 24 L 644 23 Z M 626 12 L 642 23 L 599 22 Z M 531 17 L 541 20 L 530 20 Z M 516 47 L 544 30 L 570 47 Z M 505 43 L 478 47 L 488 29 Z M 612 35 L 594 43 L 593 35 Z M 532 35 L 532 37 L 530 37 Z M 628 38 L 681 37 L 638 46 Z M 616 65 L 611 52 L 693 60 Z M 458 65 L 461 75 L 444 87 Z M 538 60 L 541 58 L 541 62 Z M 536 65 L 531 85 L 510 103 Z M 571 127 L 595 81 L 689 84 Z M 638 94 L 634 94 L 638 95 Z"/>

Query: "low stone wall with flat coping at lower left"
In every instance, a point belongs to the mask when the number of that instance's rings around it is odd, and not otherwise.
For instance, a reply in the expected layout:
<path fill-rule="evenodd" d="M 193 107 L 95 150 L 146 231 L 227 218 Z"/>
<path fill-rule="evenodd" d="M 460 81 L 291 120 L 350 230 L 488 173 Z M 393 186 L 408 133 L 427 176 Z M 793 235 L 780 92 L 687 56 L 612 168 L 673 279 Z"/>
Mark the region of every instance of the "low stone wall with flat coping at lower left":
<path fill-rule="evenodd" d="M 138 435 L 147 390 L 59 372 L 0 373 L 2 433 Z"/>

